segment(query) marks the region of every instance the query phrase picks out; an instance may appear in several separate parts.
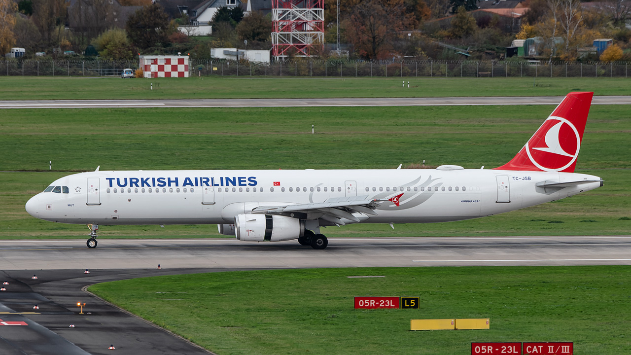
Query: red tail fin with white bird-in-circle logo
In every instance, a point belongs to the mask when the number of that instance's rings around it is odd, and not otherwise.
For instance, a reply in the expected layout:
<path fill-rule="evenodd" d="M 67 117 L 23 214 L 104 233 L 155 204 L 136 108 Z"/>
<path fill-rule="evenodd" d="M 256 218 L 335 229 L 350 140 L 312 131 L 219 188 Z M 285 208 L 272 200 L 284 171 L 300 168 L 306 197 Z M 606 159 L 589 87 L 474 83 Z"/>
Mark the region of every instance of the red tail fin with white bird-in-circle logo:
<path fill-rule="evenodd" d="M 592 96 L 567 94 L 519 153 L 495 169 L 574 172 Z"/>

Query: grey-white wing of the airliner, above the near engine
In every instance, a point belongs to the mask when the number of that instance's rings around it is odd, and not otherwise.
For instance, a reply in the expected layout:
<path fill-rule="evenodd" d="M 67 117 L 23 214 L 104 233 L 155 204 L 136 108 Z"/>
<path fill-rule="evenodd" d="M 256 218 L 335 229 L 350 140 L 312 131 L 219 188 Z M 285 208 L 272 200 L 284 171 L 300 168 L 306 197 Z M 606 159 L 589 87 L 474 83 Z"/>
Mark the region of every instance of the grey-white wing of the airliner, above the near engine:
<path fill-rule="evenodd" d="M 377 215 L 374 211 L 379 202 L 387 201 L 384 198 L 368 198 L 368 196 L 351 196 L 329 198 L 324 202 L 301 203 L 285 206 L 261 206 L 252 210 L 253 214 L 286 214 L 298 212 L 304 214 L 315 213 L 318 218 L 328 220 L 331 223 L 344 226 L 348 223 L 357 223 L 367 219 L 368 215 Z M 360 215 L 355 215 L 357 213 Z M 365 215 L 365 218 L 358 218 Z"/>

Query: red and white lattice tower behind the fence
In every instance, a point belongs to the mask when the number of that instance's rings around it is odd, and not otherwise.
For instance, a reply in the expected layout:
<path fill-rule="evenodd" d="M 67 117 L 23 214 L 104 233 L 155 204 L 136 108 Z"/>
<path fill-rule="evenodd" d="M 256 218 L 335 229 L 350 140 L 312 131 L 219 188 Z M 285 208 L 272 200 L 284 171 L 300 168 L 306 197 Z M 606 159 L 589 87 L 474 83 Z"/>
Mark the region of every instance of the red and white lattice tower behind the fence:
<path fill-rule="evenodd" d="M 324 0 L 272 0 L 272 56 L 310 57 L 324 48 Z"/>

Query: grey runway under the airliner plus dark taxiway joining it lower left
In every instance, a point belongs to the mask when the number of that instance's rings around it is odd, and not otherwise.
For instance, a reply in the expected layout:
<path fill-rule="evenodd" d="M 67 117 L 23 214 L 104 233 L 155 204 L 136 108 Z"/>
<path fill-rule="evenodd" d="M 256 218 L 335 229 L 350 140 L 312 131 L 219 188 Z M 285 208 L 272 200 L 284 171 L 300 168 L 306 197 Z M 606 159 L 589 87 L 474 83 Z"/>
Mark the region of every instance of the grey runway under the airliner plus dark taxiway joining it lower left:
<path fill-rule="evenodd" d="M 0 282 L 8 285 L 0 292 L 0 349 L 9 355 L 110 354 L 110 346 L 125 354 L 209 354 L 83 291 L 112 280 L 273 268 L 631 265 L 630 255 L 631 236 L 330 238 L 326 250 L 236 239 L 101 238 L 96 249 L 85 239 L 3 240 Z M 86 303 L 83 315 L 77 302 Z"/>

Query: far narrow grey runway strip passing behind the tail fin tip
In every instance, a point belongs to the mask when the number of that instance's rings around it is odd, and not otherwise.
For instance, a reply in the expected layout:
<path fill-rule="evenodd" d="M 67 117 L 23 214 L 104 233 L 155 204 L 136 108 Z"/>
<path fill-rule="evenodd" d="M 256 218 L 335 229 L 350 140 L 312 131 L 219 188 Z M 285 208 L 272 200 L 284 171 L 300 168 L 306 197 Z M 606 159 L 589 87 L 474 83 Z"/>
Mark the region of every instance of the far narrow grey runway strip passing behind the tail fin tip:
<path fill-rule="evenodd" d="M 557 105 L 563 96 L 533 97 L 406 97 L 343 99 L 179 99 L 179 100 L 3 100 L 0 109 L 89 107 L 314 107 L 314 106 L 459 106 Z M 593 105 L 631 104 L 631 96 L 594 96 Z"/>

